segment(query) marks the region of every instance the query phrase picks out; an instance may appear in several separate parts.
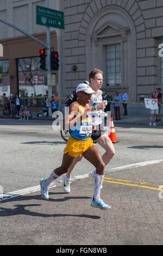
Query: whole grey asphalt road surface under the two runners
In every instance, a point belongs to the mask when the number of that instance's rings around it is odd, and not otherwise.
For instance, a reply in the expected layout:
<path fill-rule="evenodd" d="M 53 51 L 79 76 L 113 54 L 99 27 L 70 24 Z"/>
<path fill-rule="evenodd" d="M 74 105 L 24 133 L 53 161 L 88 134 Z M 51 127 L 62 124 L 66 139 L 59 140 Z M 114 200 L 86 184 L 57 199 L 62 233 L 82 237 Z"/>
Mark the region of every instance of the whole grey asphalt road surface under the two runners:
<path fill-rule="evenodd" d="M 111 209 L 102 211 L 90 206 L 93 182 L 81 177 L 93 166 L 84 159 L 74 169 L 70 194 L 62 191 L 60 179 L 49 200 L 41 197 L 39 180 L 60 165 L 66 145 L 51 122 L 0 122 L 0 188 L 8 197 L 25 191 L 0 202 L 1 245 L 53 245 L 52 253 L 54 245 L 162 245 L 161 127 L 115 127 L 120 142 L 101 191 Z"/>

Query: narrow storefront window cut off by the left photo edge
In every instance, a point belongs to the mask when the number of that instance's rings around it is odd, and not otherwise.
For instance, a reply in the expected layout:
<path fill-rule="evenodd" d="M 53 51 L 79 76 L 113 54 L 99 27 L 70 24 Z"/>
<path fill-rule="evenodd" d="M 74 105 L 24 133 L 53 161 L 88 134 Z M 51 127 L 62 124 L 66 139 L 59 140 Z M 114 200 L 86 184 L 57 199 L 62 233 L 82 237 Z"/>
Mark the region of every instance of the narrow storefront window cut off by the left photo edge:
<path fill-rule="evenodd" d="M 10 96 L 9 60 L 0 60 L 0 103 L 3 93 Z"/>

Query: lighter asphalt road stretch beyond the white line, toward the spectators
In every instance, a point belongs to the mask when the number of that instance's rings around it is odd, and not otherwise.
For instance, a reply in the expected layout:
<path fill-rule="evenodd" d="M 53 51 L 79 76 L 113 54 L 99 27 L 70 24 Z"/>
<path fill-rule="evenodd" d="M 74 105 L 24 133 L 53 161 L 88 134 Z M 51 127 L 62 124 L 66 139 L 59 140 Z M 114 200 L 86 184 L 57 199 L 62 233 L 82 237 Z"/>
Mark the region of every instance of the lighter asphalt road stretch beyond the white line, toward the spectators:
<path fill-rule="evenodd" d="M 117 167 L 121 170 L 122 166 L 129 164 L 162 160 L 163 130 L 160 128 L 129 125 L 115 127 L 119 142 L 114 144 L 116 154 L 106 166 L 105 173 L 111 173 L 113 169 L 114 172 L 118 172 Z M 5 193 L 39 185 L 40 178 L 47 178 L 54 168 L 60 166 L 66 145 L 60 132 L 52 129 L 51 121 L 45 123 L 45 121 L 1 119 L 0 141 L 0 185 Z M 97 148 L 101 154 L 104 153 L 98 144 Z M 93 168 L 91 163 L 83 159 L 74 168 L 72 178 L 87 174 Z M 155 173 L 156 168 L 153 165 Z M 148 177 L 143 177 L 142 173 L 141 180 L 146 182 Z M 154 177 L 150 182 L 155 182 Z M 160 184 L 161 182 L 163 185 L 163 181 L 160 180 Z"/>

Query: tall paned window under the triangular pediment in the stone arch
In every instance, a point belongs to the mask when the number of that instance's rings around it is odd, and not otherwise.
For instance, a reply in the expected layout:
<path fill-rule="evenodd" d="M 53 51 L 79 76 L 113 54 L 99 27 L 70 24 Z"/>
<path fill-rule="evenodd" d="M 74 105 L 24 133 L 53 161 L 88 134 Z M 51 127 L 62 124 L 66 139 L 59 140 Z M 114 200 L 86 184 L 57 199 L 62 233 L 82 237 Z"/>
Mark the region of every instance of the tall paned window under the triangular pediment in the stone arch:
<path fill-rule="evenodd" d="M 121 84 L 121 44 L 106 46 L 106 84 Z"/>

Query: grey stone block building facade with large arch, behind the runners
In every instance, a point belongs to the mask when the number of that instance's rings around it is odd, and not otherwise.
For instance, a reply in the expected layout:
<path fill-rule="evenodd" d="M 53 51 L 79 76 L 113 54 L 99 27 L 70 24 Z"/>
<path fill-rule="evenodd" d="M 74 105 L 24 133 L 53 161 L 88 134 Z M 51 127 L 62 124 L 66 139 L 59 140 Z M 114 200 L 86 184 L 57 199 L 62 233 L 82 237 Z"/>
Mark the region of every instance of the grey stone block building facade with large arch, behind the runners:
<path fill-rule="evenodd" d="M 159 45 L 162 0 L 64 0 L 61 91 L 70 95 L 91 69 L 103 70 L 103 89 L 125 89 L 129 101 L 163 90 Z M 163 42 L 163 41 L 162 41 Z M 117 50 L 116 50 L 117 49 Z"/>

